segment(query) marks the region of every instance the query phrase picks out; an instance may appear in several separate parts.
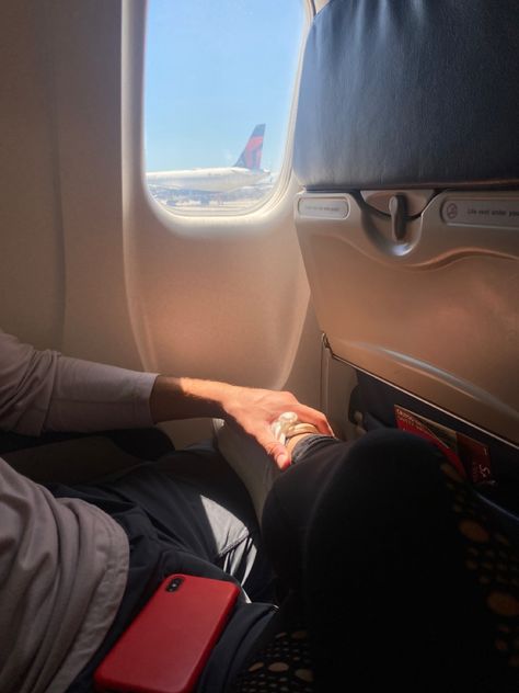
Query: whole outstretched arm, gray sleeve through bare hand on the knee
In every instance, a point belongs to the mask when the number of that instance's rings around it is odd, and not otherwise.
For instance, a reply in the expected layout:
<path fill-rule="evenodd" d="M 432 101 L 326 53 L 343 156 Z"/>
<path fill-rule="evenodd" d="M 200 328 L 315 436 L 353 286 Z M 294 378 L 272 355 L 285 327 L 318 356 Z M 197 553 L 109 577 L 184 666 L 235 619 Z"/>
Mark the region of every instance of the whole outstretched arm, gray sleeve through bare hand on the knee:
<path fill-rule="evenodd" d="M 241 427 L 284 468 L 290 455 L 276 441 L 270 423 L 287 410 L 332 434 L 324 414 L 301 405 L 290 393 L 127 371 L 56 351 L 37 351 L 0 331 L 3 430 L 38 435 L 215 417 Z"/>

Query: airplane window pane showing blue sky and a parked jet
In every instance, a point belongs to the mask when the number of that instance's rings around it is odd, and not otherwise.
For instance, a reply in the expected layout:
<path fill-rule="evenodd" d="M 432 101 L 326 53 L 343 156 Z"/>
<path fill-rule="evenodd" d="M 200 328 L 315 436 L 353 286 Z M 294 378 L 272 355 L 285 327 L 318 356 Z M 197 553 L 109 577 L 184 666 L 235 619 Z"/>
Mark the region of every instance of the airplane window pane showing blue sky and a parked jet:
<path fill-rule="evenodd" d="M 145 166 L 181 214 L 240 214 L 282 170 L 304 0 L 150 0 Z"/>

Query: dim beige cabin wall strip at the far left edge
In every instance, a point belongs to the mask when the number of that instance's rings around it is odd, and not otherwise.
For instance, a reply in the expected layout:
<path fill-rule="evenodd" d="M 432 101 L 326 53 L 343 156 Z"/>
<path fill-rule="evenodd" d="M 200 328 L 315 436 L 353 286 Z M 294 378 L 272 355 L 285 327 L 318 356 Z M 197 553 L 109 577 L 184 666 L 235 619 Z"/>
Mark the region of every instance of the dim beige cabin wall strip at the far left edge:
<path fill-rule="evenodd" d="M 9 2 L 0 22 L 0 325 L 38 346 L 59 346 L 62 228 L 56 180 L 46 13 Z"/>

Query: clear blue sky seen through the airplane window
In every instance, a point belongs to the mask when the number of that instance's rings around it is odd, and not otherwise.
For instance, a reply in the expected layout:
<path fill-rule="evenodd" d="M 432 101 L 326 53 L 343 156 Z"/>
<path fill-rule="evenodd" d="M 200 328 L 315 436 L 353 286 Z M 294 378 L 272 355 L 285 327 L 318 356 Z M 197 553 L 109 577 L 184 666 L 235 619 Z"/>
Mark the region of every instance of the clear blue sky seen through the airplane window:
<path fill-rule="evenodd" d="M 302 0 L 149 0 L 146 169 L 232 166 L 265 123 L 278 170 L 303 24 Z"/>

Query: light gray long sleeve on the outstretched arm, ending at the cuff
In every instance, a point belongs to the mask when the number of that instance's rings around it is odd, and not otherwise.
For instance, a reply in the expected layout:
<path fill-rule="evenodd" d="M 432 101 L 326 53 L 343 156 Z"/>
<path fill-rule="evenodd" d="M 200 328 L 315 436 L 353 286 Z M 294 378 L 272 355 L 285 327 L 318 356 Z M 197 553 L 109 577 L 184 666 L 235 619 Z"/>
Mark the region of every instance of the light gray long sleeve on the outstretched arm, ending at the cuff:
<path fill-rule="evenodd" d="M 0 330 L 0 429 L 37 435 L 152 425 L 155 377 L 37 351 Z"/>

